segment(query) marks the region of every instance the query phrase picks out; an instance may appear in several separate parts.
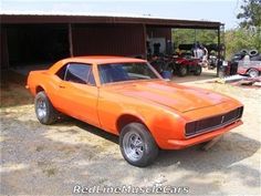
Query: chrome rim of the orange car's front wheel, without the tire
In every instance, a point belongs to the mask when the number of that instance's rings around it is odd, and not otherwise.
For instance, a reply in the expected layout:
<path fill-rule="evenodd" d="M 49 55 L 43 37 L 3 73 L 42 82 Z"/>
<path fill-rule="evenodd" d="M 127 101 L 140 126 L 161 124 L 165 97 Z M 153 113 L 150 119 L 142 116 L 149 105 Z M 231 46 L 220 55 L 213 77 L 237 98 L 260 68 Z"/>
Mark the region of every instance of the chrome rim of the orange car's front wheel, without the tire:
<path fill-rule="evenodd" d="M 144 141 L 138 133 L 130 131 L 123 138 L 123 149 L 130 161 L 139 161 L 144 155 Z"/>

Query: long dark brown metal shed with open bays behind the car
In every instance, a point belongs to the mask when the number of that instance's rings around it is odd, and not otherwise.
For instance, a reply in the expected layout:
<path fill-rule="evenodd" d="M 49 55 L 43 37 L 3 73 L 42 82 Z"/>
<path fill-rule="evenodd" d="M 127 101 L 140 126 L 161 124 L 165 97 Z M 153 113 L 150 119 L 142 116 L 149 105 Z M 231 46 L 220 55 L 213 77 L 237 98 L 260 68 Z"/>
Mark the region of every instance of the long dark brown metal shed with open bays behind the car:
<path fill-rule="evenodd" d="M 211 21 L 161 19 L 137 16 L 64 13 L 1 13 L 1 69 L 54 62 L 76 55 L 127 55 L 146 59 L 148 40 L 173 43 L 171 29 L 217 30 Z"/>

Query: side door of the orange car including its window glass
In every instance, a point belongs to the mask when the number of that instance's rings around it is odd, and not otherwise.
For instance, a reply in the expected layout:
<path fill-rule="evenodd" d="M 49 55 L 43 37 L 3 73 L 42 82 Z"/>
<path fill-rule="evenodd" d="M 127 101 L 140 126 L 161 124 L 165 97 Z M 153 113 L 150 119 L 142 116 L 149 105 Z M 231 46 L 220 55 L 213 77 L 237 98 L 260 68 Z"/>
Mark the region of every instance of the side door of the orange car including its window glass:
<path fill-rule="evenodd" d="M 56 106 L 70 116 L 100 126 L 96 109 L 98 89 L 93 75 L 93 65 L 69 63 L 63 69 L 65 72 L 60 75 L 63 80 L 56 91 Z"/>

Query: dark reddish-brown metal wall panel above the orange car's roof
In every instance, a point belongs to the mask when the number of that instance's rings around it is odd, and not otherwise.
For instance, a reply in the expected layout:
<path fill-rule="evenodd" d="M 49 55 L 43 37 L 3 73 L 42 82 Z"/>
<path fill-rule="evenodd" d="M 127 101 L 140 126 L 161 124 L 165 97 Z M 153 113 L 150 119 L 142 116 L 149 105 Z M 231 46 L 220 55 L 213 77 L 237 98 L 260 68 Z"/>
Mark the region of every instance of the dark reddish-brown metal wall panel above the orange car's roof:
<path fill-rule="evenodd" d="M 140 55 L 145 54 L 142 24 L 74 24 L 74 55 Z"/>

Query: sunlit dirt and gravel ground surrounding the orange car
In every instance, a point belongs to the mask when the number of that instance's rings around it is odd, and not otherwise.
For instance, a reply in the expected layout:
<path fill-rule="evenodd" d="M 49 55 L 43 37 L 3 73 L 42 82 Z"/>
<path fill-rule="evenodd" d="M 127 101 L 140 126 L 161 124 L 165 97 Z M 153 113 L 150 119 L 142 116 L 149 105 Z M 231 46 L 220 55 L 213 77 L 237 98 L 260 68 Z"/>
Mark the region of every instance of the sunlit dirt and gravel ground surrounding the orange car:
<path fill-rule="evenodd" d="M 199 146 L 161 151 L 154 165 L 137 168 L 123 159 L 114 135 L 72 118 L 41 125 L 21 80 L 1 82 L 1 195 L 71 195 L 75 185 L 156 184 L 188 187 L 191 195 L 261 195 L 260 89 L 175 79 L 240 100 L 244 124 L 207 152 Z"/>

